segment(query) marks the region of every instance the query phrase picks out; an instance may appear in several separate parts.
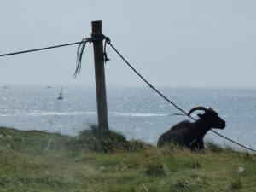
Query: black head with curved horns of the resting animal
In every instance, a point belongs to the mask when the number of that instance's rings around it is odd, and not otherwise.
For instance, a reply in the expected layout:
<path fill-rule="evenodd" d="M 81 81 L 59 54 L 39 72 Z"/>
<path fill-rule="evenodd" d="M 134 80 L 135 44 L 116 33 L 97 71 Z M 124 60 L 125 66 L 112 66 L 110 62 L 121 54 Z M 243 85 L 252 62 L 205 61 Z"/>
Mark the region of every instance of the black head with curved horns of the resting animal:
<path fill-rule="evenodd" d="M 218 128 L 218 129 L 224 129 L 224 127 L 226 126 L 226 123 L 224 121 L 224 119 L 221 119 L 218 116 L 218 113 L 216 113 L 212 108 L 204 108 L 204 107 L 196 107 L 196 108 L 192 108 L 189 111 L 189 115 L 191 113 L 193 113 L 196 110 L 202 110 L 205 113 L 201 114 L 197 114 L 197 116 L 203 120 L 204 122 L 207 123 L 207 125 L 209 125 L 212 128 Z"/>

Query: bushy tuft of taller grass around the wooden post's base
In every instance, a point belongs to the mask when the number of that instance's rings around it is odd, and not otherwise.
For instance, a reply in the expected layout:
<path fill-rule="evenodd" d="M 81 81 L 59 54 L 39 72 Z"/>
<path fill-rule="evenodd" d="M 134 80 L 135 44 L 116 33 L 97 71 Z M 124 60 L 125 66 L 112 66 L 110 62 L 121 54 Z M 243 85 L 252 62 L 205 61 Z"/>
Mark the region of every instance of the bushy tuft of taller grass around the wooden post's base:
<path fill-rule="evenodd" d="M 139 151 L 146 145 L 139 141 L 127 141 L 126 138 L 115 131 L 101 130 L 96 125 L 90 125 L 90 129 L 80 131 L 78 137 L 74 137 L 67 143 L 67 148 L 76 150 L 113 153 L 125 151 Z"/>

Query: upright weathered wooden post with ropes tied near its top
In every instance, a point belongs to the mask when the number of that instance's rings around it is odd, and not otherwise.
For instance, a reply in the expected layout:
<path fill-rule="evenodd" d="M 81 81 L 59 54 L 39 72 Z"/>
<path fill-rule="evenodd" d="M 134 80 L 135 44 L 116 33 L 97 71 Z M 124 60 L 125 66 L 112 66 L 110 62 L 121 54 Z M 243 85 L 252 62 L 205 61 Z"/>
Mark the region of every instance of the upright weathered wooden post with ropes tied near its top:
<path fill-rule="evenodd" d="M 102 21 L 91 22 L 92 38 L 94 35 L 102 34 Z M 95 36 L 94 36 L 95 37 Z M 108 130 L 108 109 L 107 94 L 105 83 L 105 68 L 103 60 L 103 39 L 93 42 L 94 63 L 95 63 L 95 79 L 96 79 L 96 100 L 98 125 L 101 130 Z"/>

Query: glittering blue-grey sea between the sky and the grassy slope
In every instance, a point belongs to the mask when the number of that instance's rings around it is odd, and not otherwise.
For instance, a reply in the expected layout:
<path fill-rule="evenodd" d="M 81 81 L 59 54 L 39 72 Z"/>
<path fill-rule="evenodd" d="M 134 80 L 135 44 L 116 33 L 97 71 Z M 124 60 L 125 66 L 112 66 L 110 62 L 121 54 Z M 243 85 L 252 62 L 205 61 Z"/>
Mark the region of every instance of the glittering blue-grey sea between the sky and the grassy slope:
<path fill-rule="evenodd" d="M 40 130 L 76 136 L 97 124 L 94 87 L 0 87 L 0 126 L 18 130 Z M 256 149 L 256 88 L 167 88 L 159 90 L 186 112 L 197 106 L 213 108 L 226 121 L 218 133 Z M 108 125 L 127 139 L 155 145 L 172 125 L 189 120 L 149 87 L 110 87 Z M 197 111 L 193 117 L 197 118 Z M 240 148 L 208 131 L 205 141 Z"/>

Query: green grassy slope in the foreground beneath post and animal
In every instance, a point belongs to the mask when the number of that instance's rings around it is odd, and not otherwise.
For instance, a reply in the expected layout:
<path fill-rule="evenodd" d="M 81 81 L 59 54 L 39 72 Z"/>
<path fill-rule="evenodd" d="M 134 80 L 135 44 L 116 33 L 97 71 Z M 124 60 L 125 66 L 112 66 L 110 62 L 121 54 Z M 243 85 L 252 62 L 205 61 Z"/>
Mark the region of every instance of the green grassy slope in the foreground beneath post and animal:
<path fill-rule="evenodd" d="M 155 148 L 95 126 L 78 137 L 0 128 L 0 192 L 256 191 L 255 160 L 214 143 L 200 154 Z"/>

